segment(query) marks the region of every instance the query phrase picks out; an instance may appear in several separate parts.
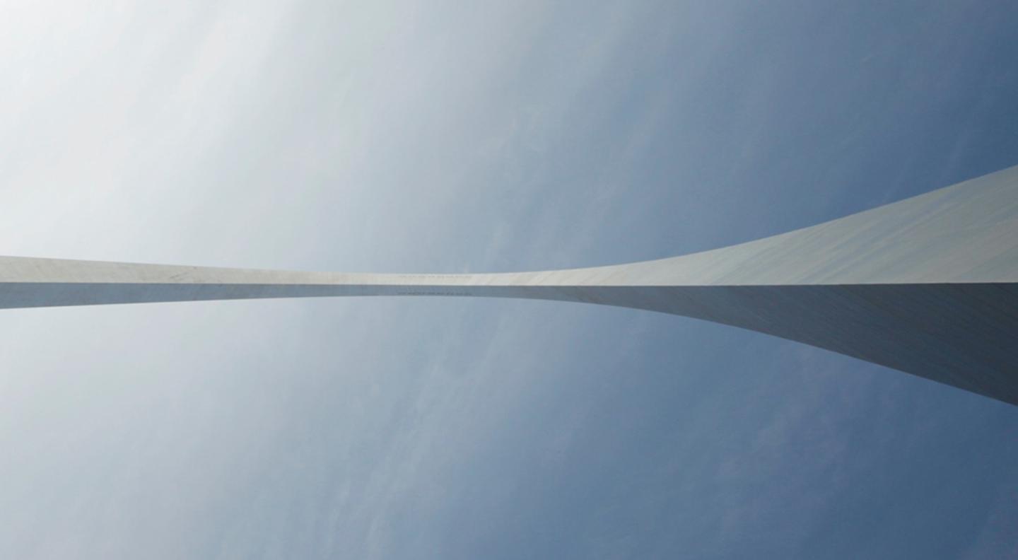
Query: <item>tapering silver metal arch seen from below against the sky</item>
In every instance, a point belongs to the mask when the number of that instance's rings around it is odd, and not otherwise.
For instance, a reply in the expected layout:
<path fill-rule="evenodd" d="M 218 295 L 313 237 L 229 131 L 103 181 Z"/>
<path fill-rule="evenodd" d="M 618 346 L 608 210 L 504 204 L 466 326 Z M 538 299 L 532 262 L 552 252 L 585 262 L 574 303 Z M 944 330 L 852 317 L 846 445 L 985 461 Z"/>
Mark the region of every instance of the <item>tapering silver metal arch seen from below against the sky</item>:
<path fill-rule="evenodd" d="M 715 250 L 503 274 L 348 274 L 0 257 L 0 309 L 445 295 L 714 321 L 1018 404 L 1018 166 Z"/>

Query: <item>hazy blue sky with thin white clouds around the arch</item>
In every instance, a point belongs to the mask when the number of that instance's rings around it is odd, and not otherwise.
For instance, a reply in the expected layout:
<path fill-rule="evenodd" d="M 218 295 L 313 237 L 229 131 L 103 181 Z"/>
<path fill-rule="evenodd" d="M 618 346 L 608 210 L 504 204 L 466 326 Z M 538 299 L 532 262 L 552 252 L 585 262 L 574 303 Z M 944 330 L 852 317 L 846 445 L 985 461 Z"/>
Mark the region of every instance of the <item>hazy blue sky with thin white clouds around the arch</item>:
<path fill-rule="evenodd" d="M 663 258 L 1018 164 L 1010 2 L 0 7 L 0 254 Z M 1018 409 L 678 317 L 0 314 L 0 556 L 1004 558 Z"/>

